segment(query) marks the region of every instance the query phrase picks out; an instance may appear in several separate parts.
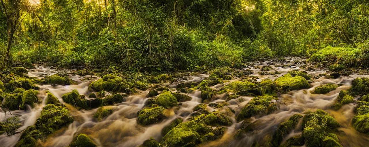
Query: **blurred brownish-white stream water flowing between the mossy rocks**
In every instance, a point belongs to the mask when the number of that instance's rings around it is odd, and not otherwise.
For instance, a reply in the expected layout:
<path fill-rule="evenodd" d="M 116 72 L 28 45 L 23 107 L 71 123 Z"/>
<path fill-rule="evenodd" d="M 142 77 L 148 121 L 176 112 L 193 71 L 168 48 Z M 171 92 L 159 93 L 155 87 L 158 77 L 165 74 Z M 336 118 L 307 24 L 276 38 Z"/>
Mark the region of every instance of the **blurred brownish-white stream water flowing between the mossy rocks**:
<path fill-rule="evenodd" d="M 300 68 L 301 66 L 308 66 L 304 59 L 301 58 L 286 58 L 285 61 L 262 61 L 262 62 L 254 62 L 249 63 L 251 65 L 248 68 L 254 71 L 254 76 L 259 77 L 259 81 L 262 79 L 276 79 L 283 74 L 286 74 L 288 71 L 292 69 L 299 69 L 300 71 L 305 70 L 309 75 L 318 76 L 319 73 L 326 73 L 328 69 L 325 68 L 315 68 L 314 70 L 306 70 L 305 68 Z M 261 75 L 261 69 L 263 65 L 270 65 L 272 69 L 270 71 L 278 71 L 281 74 L 276 75 Z M 58 72 L 50 68 L 39 67 L 36 69 L 32 69 L 28 72 L 28 76 L 43 78 L 46 75 L 53 75 Z M 338 96 L 340 90 L 347 90 L 351 87 L 351 82 L 356 77 L 368 77 L 369 75 L 350 75 L 350 76 L 341 76 L 337 79 L 325 79 L 325 77 L 321 77 L 318 79 L 312 79 L 311 88 L 310 89 L 302 89 L 292 91 L 288 94 L 279 95 L 279 100 L 277 103 L 280 103 L 280 109 L 273 112 L 272 114 L 262 116 L 262 117 L 253 117 L 253 121 L 258 121 L 258 125 L 253 128 L 252 132 L 248 132 L 243 134 L 242 139 L 234 140 L 233 135 L 239 128 L 242 122 L 237 123 L 234 118 L 233 125 L 228 127 L 228 130 L 225 132 L 223 137 L 218 140 L 207 142 L 200 144 L 202 147 L 244 147 L 251 146 L 255 141 L 263 142 L 268 137 L 270 137 L 271 133 L 274 132 L 279 125 L 279 123 L 285 121 L 290 116 L 296 113 L 303 113 L 305 111 L 315 111 L 317 109 L 323 109 L 330 113 L 341 125 L 339 128 L 340 132 L 337 134 L 342 146 L 345 147 L 361 147 L 367 146 L 369 144 L 369 136 L 357 132 L 354 128 L 351 127 L 351 119 L 354 116 L 353 110 L 355 108 L 355 104 L 346 104 L 343 105 L 341 109 L 338 111 L 333 111 L 329 109 L 329 106 L 334 103 L 335 99 Z M 43 101 L 41 104 L 36 104 L 34 108 L 27 107 L 27 111 L 11 111 L 9 112 L 1 112 L 0 113 L 0 121 L 3 121 L 6 118 L 11 116 L 19 116 L 21 121 L 21 127 L 17 129 L 17 132 L 22 132 L 25 128 L 30 125 L 34 125 L 36 119 L 39 117 L 42 107 L 45 106 L 45 98 L 46 98 L 46 90 L 49 90 L 52 94 L 54 94 L 59 101 L 63 103 L 62 95 L 71 92 L 73 89 L 77 89 L 80 94 L 85 94 L 86 98 L 88 98 L 89 91 L 87 90 L 87 86 L 90 82 L 98 77 L 94 77 L 92 75 L 87 76 L 78 76 L 78 75 L 69 75 L 69 77 L 77 82 L 76 85 L 70 86 L 60 86 L 60 85 L 38 85 L 40 89 L 40 93 L 38 94 L 39 98 L 42 98 Z M 197 82 L 201 81 L 204 78 L 207 78 L 208 75 L 199 74 L 196 76 L 186 76 L 187 80 L 183 80 L 180 82 Z M 238 79 L 235 79 L 238 80 Z M 234 80 L 232 80 L 234 81 Z M 179 82 L 177 82 L 179 83 Z M 177 83 L 172 83 L 169 86 L 175 87 Z M 326 84 L 326 83 L 342 83 L 343 85 L 338 87 L 336 90 L 331 91 L 328 94 L 312 94 L 311 90 L 315 87 Z M 227 83 L 223 83 L 220 85 L 215 85 L 213 89 L 220 89 Z M 120 104 L 115 104 L 111 107 L 115 110 L 113 114 L 109 115 L 107 118 L 104 118 L 103 121 L 96 121 L 93 117 L 94 113 L 97 111 L 93 110 L 76 110 L 74 107 L 64 103 L 66 107 L 69 108 L 72 115 L 75 117 L 75 121 L 71 123 L 68 127 L 65 127 L 53 135 L 49 136 L 48 139 L 43 143 L 43 146 L 47 147 L 65 147 L 73 140 L 73 137 L 80 133 L 86 133 L 99 145 L 99 146 L 120 146 L 120 147 L 134 147 L 139 146 L 143 143 L 144 140 L 149 139 L 150 137 L 154 137 L 155 140 L 160 141 L 163 137 L 161 135 L 161 130 L 172 122 L 174 119 L 180 117 L 186 121 L 191 113 L 192 109 L 197 104 L 201 103 L 200 91 L 195 91 L 191 94 L 187 94 L 192 97 L 191 101 L 183 102 L 180 106 L 179 110 L 168 109 L 165 111 L 165 114 L 169 116 L 164 121 L 149 125 L 149 126 L 141 126 L 137 124 L 137 111 L 141 110 L 144 107 L 145 101 L 147 98 L 145 97 L 149 91 L 139 91 L 134 95 L 126 97 L 125 102 Z M 172 91 L 175 92 L 175 91 Z M 222 99 L 222 95 L 217 96 L 219 99 L 214 101 L 225 101 Z M 239 102 L 237 99 L 233 99 L 228 101 L 230 105 L 225 107 L 230 107 L 236 111 L 236 114 L 241 111 L 241 109 L 250 101 L 252 96 L 243 96 L 243 102 Z M 357 98 L 356 98 L 357 100 Z M 213 102 L 214 102 L 213 101 Z M 208 110 L 215 110 L 212 107 L 207 107 Z M 297 127 L 299 128 L 299 127 Z M 301 134 L 301 129 L 293 130 L 289 137 Z M 21 133 L 18 133 L 13 136 L 1 135 L 0 136 L 0 144 L 3 147 L 13 147 L 20 138 Z M 286 138 L 288 139 L 288 137 Z"/>

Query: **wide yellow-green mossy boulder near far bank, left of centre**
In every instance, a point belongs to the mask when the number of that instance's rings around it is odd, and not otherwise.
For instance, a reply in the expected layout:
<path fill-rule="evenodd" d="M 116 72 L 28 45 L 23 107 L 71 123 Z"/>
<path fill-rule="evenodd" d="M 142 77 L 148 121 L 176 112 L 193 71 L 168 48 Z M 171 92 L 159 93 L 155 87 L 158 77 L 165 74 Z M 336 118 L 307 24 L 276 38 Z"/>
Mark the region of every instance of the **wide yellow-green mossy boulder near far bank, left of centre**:
<path fill-rule="evenodd" d="M 122 78 L 120 78 L 119 76 L 114 76 L 114 75 L 104 75 L 103 78 L 98 79 L 96 81 L 93 81 L 90 85 L 89 85 L 89 89 L 92 88 L 94 90 L 97 91 L 102 91 L 102 90 L 106 90 L 108 92 L 112 91 L 118 83 L 122 82 Z M 121 89 L 115 90 L 115 91 L 119 91 Z"/>

